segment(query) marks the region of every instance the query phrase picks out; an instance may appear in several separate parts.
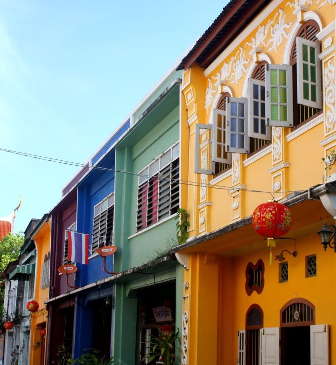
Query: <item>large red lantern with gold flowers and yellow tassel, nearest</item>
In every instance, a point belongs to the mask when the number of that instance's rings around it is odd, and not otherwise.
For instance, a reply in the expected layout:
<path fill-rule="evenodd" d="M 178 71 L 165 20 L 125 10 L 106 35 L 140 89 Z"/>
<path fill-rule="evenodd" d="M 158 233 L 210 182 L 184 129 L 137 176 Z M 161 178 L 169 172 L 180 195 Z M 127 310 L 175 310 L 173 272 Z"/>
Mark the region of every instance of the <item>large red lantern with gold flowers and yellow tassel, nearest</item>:
<path fill-rule="evenodd" d="M 255 231 L 267 237 L 267 246 L 270 248 L 269 264 L 272 262 L 272 248 L 275 247 L 275 238 L 286 234 L 292 226 L 292 213 L 283 204 L 268 201 L 258 205 L 252 215 L 252 224 Z"/>

